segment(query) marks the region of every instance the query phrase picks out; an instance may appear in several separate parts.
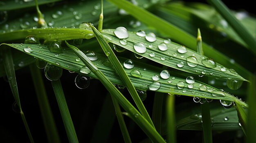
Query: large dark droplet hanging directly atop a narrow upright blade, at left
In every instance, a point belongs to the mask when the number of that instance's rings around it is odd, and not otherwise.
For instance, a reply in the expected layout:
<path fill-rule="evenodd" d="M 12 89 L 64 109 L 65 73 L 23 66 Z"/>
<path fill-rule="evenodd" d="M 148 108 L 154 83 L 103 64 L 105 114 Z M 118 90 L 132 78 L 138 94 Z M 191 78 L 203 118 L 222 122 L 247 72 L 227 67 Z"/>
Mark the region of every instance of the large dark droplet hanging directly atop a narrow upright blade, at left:
<path fill-rule="evenodd" d="M 50 81 L 56 81 L 62 76 L 62 68 L 54 66 L 52 64 L 47 64 L 45 66 L 45 77 Z"/>

